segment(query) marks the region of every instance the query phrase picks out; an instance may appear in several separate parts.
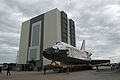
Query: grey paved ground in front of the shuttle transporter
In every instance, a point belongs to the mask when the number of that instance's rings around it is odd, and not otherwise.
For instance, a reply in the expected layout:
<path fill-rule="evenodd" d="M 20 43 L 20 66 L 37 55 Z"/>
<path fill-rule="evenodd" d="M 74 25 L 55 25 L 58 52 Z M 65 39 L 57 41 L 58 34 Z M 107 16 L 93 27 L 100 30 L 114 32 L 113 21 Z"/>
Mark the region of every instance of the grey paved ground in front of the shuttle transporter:
<path fill-rule="evenodd" d="M 47 72 L 13 72 L 12 75 L 7 76 L 6 71 L 0 74 L 0 80 L 120 80 L 120 70 L 100 69 L 57 73 Z"/>

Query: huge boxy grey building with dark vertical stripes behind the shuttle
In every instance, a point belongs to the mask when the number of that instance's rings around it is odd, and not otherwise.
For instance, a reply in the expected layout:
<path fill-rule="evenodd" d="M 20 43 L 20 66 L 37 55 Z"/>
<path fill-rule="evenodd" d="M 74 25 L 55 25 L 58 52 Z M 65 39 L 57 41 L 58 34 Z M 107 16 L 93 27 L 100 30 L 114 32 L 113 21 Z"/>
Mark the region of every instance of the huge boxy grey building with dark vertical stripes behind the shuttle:
<path fill-rule="evenodd" d="M 43 57 L 43 49 L 62 41 L 76 46 L 75 23 L 57 8 L 22 23 L 18 67 L 26 70 L 28 64 L 42 68 L 51 61 Z"/>

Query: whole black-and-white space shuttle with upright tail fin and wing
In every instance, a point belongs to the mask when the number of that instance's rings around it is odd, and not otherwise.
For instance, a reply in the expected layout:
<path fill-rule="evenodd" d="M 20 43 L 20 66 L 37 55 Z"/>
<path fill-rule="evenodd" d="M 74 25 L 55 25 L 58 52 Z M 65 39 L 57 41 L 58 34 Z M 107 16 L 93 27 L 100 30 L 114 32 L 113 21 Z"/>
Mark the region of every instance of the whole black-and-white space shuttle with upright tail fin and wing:
<path fill-rule="evenodd" d="M 110 60 L 92 60 L 91 52 L 85 50 L 85 41 L 83 40 L 81 49 L 64 42 L 57 42 L 54 46 L 44 49 L 43 56 L 52 61 L 59 61 L 64 64 L 102 64 L 109 63 Z"/>

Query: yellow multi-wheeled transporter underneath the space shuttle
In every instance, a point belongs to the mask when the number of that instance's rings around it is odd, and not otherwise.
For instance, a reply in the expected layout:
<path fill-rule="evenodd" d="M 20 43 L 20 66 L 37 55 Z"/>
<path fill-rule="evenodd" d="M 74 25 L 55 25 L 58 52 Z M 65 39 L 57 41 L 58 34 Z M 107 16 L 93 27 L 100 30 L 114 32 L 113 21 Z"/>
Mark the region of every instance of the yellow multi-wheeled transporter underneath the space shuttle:
<path fill-rule="evenodd" d="M 88 65 L 88 64 L 80 64 L 80 65 L 59 65 L 56 62 L 54 62 L 55 64 L 53 65 L 48 64 L 45 65 L 44 68 L 46 68 L 46 70 L 49 71 L 55 71 L 55 72 L 75 72 L 75 71 L 81 71 L 81 70 L 91 70 L 92 66 Z"/>

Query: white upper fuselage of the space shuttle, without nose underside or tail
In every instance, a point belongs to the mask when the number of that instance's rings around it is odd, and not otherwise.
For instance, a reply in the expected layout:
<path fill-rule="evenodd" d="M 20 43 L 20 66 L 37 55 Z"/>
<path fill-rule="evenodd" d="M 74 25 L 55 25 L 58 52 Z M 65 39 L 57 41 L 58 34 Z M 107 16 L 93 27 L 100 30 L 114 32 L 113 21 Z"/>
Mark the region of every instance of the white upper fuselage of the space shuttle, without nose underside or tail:
<path fill-rule="evenodd" d="M 53 49 L 59 49 L 59 50 L 67 50 L 67 57 L 72 57 L 76 59 L 82 59 L 82 60 L 90 60 L 92 53 L 85 51 L 85 50 L 79 50 L 76 47 L 73 47 L 69 44 L 66 44 L 64 42 L 57 42 L 56 45 L 52 46 Z"/>

